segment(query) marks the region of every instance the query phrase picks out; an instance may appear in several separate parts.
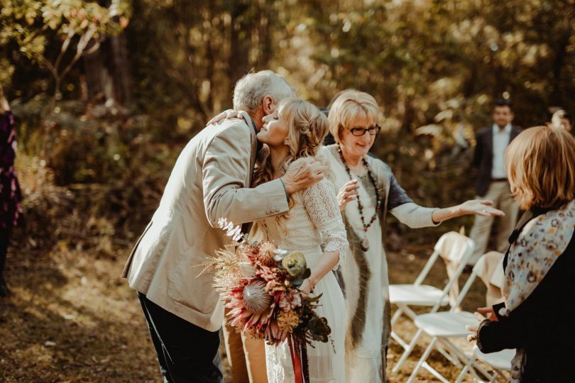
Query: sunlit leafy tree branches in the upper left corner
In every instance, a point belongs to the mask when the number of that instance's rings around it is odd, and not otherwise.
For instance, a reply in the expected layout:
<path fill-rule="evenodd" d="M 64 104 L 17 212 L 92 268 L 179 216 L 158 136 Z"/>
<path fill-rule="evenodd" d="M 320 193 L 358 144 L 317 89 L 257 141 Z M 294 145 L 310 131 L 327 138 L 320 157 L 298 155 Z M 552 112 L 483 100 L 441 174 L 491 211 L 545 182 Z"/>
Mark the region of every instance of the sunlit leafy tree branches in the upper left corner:
<path fill-rule="evenodd" d="M 23 55 L 46 67 L 58 99 L 62 79 L 77 60 L 97 50 L 106 35 L 120 33 L 131 11 L 126 0 L 113 0 L 108 7 L 84 0 L 1 0 L 0 6 L 0 45 L 14 40 Z M 57 55 L 47 53 L 53 45 Z M 67 57 L 72 46 L 75 53 Z"/>

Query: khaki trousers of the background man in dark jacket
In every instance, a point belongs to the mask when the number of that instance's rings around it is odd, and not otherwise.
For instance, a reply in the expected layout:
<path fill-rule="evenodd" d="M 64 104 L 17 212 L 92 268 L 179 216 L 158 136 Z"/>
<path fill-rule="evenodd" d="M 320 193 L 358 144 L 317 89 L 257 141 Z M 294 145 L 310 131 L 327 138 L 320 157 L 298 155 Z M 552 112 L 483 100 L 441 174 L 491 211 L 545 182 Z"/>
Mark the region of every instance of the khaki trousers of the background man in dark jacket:
<path fill-rule="evenodd" d="M 497 241 L 495 250 L 498 252 L 505 252 L 509 246 L 508 238 L 515 228 L 517 223 L 517 214 L 519 213 L 519 206 L 511 196 L 511 189 L 509 182 L 496 181 L 491 182 L 487 189 L 485 196 L 476 196 L 476 199 L 490 199 L 493 201 L 493 207 L 503 211 L 504 217 L 498 217 L 497 228 Z M 469 260 L 469 265 L 475 265 L 481 255 L 485 254 L 487 243 L 489 240 L 489 233 L 491 233 L 491 225 L 493 225 L 493 216 L 475 216 L 473 228 L 469 233 L 469 237 L 475 242 L 473 256 Z"/>

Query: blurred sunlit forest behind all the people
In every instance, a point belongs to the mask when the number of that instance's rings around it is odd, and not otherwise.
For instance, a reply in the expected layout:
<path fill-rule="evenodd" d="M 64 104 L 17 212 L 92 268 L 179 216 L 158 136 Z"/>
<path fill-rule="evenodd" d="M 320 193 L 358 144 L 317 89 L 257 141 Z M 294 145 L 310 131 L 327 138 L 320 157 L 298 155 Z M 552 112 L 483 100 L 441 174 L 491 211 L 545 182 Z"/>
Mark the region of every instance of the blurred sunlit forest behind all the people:
<path fill-rule="evenodd" d="M 251 70 L 327 106 L 372 94 L 373 153 L 417 203 L 473 197 L 474 132 L 575 111 L 574 0 L 0 0 L 0 83 L 16 116 L 26 220 L 13 255 L 126 257 L 177 155 Z M 432 243 L 461 218 L 388 245 Z M 9 266 L 11 260 L 9 259 Z M 31 263 L 30 263 L 31 262 Z M 9 279 L 10 280 L 10 279 Z"/>

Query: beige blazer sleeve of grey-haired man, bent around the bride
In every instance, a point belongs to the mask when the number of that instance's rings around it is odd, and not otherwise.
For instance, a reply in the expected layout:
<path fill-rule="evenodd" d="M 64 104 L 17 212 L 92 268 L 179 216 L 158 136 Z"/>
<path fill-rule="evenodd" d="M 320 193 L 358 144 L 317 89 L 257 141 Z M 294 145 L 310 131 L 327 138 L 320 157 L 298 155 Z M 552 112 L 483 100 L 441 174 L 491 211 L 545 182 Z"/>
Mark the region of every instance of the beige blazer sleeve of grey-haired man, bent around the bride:
<path fill-rule="evenodd" d="M 202 187 L 204 209 L 212 227 L 217 227 L 222 217 L 240 224 L 288 211 L 280 179 L 246 187 L 251 172 L 250 151 L 250 132 L 243 123 L 224 129 L 209 143 L 202 167 Z"/>

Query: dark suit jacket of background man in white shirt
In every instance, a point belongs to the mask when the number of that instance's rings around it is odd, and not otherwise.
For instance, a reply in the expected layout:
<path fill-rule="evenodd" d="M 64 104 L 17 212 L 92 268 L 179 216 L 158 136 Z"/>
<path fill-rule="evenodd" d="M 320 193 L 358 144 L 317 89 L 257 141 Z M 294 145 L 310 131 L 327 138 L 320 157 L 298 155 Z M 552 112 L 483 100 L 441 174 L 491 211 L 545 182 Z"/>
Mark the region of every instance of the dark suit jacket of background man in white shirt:
<path fill-rule="evenodd" d="M 521 131 L 520 127 L 512 126 L 509 142 L 517 137 Z M 493 126 L 486 126 L 477 132 L 473 166 L 478 169 L 475 192 L 478 196 L 484 196 L 491 184 L 491 168 L 493 167 Z"/>

